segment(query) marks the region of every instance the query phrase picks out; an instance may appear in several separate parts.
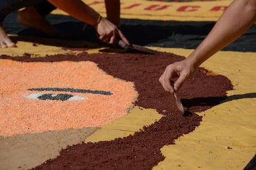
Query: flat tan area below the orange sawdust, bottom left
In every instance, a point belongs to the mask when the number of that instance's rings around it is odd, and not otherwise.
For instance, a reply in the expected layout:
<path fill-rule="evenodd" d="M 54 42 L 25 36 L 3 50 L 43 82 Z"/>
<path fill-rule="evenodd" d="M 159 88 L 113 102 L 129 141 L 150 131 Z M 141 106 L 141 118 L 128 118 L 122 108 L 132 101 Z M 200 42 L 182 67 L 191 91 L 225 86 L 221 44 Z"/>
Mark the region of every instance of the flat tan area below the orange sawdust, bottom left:
<path fill-rule="evenodd" d="M 56 158 L 62 148 L 83 142 L 98 127 L 22 134 L 0 137 L 0 168 L 30 169 L 50 158 Z"/>

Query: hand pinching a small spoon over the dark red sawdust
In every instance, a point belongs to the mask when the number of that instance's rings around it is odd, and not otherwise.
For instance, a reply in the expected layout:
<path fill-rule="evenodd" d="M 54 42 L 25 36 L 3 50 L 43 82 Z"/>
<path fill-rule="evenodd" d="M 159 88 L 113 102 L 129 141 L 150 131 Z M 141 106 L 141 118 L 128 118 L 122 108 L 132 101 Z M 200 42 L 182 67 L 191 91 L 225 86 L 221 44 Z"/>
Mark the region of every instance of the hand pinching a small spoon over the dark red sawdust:
<path fill-rule="evenodd" d="M 182 84 L 192 75 L 194 75 L 195 70 L 196 68 L 191 64 L 189 59 L 184 59 L 180 62 L 175 62 L 168 65 L 165 68 L 164 73 L 160 76 L 159 81 L 165 91 L 174 93 L 179 91 Z M 174 86 L 171 86 L 170 80 L 177 77 L 178 79 L 174 83 Z"/>

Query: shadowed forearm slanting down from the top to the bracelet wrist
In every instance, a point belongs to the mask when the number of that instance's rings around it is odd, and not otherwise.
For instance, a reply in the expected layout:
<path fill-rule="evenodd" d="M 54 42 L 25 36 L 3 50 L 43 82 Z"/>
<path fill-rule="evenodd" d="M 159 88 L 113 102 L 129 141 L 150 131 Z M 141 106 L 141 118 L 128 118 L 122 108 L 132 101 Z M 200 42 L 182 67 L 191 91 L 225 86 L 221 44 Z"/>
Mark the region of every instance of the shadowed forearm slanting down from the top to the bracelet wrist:
<path fill-rule="evenodd" d="M 54 6 L 67 12 L 67 14 L 86 22 L 91 25 L 95 25 L 99 14 L 91 7 L 87 6 L 80 0 L 48 0 Z"/>

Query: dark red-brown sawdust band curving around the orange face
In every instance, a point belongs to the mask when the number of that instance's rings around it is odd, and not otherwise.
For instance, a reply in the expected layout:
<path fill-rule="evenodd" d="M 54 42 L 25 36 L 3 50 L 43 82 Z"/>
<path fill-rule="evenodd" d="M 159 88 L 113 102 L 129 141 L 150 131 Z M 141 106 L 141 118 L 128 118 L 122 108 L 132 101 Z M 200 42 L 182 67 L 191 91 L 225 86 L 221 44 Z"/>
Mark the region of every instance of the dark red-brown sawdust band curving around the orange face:
<path fill-rule="evenodd" d="M 160 53 L 146 54 L 87 54 L 54 55 L 49 57 L 7 57 L 22 62 L 58 62 L 62 60 L 98 63 L 109 75 L 135 83 L 139 92 L 136 106 L 155 108 L 165 115 L 154 124 L 143 127 L 133 136 L 109 142 L 77 144 L 62 150 L 58 158 L 48 160 L 35 169 L 152 169 L 164 160 L 160 148 L 174 144 L 174 139 L 194 131 L 202 118 L 195 114 L 218 105 L 226 98 L 226 91 L 233 89 L 228 78 L 207 76 L 200 68 L 177 92 L 186 108 L 184 115 L 177 110 L 173 95 L 163 90 L 158 79 L 169 63 L 184 57 Z M 100 81 L 100 80 L 99 80 Z M 164 111 L 165 110 L 165 111 Z"/>

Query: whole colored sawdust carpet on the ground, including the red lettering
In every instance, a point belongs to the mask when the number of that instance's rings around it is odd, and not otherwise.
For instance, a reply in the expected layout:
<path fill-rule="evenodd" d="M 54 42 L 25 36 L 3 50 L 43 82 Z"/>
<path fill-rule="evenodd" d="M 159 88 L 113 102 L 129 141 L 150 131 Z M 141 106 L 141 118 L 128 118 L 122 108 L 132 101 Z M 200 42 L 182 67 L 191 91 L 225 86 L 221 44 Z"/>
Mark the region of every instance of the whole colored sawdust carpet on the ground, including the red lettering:
<path fill-rule="evenodd" d="M 104 1 L 86 2 L 106 16 Z M 123 33 L 158 55 L 101 44 L 58 9 L 46 18 L 72 39 L 7 16 L 17 48 L 0 51 L 0 169 L 244 168 L 256 153 L 256 26 L 177 92 L 184 115 L 158 82 L 230 2 L 122 1 Z"/>

